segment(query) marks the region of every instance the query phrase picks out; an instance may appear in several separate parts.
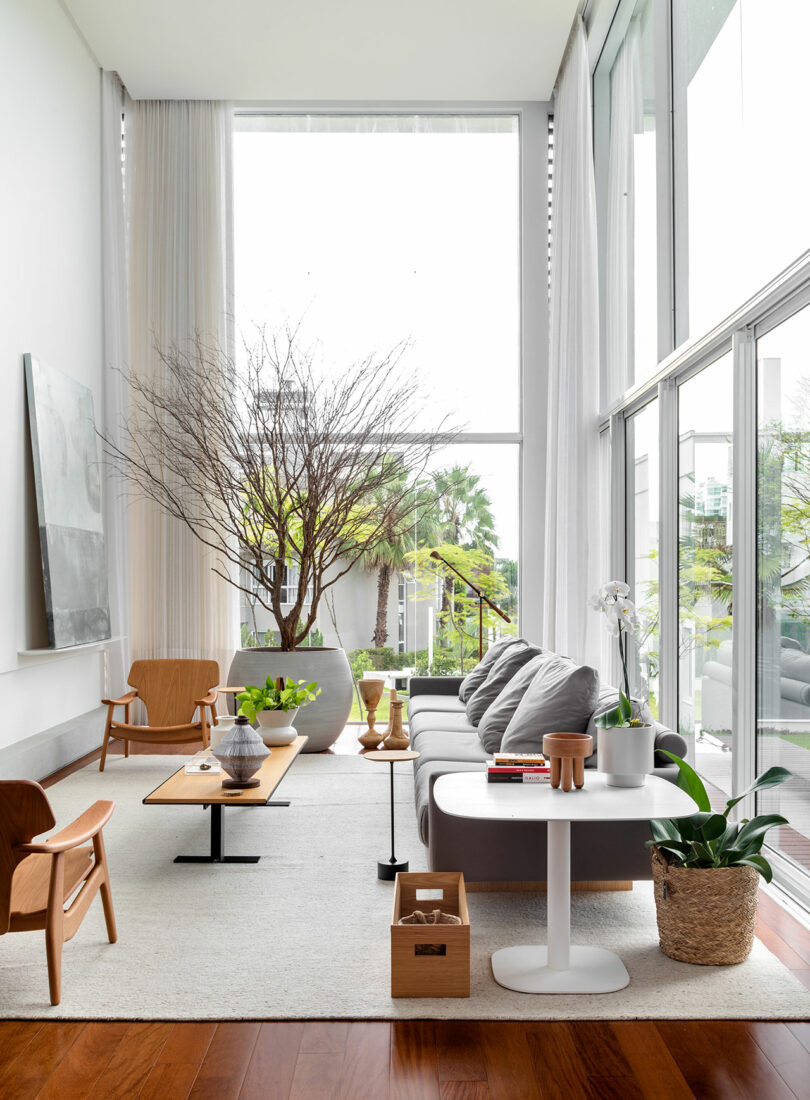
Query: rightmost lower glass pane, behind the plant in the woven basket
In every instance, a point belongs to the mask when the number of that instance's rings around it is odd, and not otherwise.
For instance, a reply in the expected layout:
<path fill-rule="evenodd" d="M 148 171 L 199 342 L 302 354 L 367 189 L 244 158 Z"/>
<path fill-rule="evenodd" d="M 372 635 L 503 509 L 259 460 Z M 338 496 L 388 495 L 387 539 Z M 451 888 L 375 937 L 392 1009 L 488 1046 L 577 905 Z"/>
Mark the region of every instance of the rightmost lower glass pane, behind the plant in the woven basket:
<path fill-rule="evenodd" d="M 795 779 L 760 795 L 790 822 L 768 834 L 810 868 L 810 310 L 757 341 L 757 772 Z"/>

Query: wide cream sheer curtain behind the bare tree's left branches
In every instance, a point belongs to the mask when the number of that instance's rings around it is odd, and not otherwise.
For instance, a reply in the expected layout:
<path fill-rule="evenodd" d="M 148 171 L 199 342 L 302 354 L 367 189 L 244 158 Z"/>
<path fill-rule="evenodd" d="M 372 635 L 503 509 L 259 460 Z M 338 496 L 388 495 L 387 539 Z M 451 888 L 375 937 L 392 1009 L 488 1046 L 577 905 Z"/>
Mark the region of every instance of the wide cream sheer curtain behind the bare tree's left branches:
<path fill-rule="evenodd" d="M 130 370 L 160 381 L 155 345 L 182 348 L 197 333 L 228 345 L 230 111 L 136 101 L 127 155 Z M 214 658 L 225 676 L 237 644 L 236 590 L 190 531 L 151 502 L 134 499 L 129 519 L 132 657 Z"/>

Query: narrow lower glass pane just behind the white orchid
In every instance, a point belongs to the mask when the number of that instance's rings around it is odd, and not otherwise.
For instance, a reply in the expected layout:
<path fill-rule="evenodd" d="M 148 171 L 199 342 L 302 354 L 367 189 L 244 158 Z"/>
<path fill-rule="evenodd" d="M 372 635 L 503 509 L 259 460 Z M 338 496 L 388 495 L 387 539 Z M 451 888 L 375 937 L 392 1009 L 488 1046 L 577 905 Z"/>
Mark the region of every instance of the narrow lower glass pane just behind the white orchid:
<path fill-rule="evenodd" d="M 628 417 L 627 583 L 641 626 L 631 662 L 631 691 L 658 717 L 658 402 Z"/>

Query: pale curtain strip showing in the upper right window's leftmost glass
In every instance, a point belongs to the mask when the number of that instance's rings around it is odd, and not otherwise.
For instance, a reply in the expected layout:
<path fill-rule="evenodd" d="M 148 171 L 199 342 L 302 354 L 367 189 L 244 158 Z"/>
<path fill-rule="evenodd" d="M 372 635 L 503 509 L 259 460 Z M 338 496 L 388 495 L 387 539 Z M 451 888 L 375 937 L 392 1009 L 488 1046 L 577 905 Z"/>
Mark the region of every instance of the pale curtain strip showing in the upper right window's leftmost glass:
<path fill-rule="evenodd" d="M 611 140 L 608 157 L 605 358 L 608 398 L 633 381 L 635 363 L 635 135 L 644 129 L 641 34 L 634 20 L 611 69 Z"/>

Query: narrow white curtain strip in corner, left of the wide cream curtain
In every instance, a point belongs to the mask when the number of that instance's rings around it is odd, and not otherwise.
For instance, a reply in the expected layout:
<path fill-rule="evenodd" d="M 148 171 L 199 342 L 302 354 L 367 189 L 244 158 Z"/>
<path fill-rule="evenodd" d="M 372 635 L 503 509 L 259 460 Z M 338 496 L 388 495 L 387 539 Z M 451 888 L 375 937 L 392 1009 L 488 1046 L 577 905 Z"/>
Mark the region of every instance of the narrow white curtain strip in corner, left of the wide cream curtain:
<path fill-rule="evenodd" d="M 117 73 L 101 75 L 101 264 L 103 272 L 103 430 L 121 441 L 125 391 L 120 371 L 129 359 L 127 301 L 127 223 L 124 218 L 121 141 L 123 118 L 131 109 Z M 109 570 L 110 620 L 113 637 L 108 650 L 105 691 L 123 690 L 129 670 L 129 554 L 127 502 L 117 477 L 105 480 L 105 535 Z"/>

